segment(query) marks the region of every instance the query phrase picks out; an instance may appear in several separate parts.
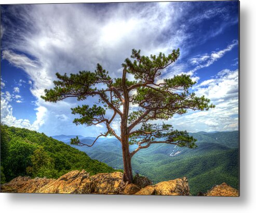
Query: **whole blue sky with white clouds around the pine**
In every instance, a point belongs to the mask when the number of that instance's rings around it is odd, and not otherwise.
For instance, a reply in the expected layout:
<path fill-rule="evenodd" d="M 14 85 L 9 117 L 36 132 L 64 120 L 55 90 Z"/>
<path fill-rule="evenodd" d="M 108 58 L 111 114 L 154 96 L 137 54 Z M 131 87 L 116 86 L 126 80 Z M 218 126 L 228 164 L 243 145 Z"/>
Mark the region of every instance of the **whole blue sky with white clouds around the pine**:
<path fill-rule="evenodd" d="M 93 71 L 100 63 L 119 77 L 133 48 L 145 55 L 180 48 L 163 76 L 190 74 L 192 90 L 216 105 L 168 123 L 189 132 L 238 130 L 237 1 L 1 5 L 1 122 L 47 135 L 97 136 L 103 126 L 72 123 L 75 99 L 54 104 L 40 96 L 56 72 Z M 112 127 L 118 132 L 118 119 Z"/>

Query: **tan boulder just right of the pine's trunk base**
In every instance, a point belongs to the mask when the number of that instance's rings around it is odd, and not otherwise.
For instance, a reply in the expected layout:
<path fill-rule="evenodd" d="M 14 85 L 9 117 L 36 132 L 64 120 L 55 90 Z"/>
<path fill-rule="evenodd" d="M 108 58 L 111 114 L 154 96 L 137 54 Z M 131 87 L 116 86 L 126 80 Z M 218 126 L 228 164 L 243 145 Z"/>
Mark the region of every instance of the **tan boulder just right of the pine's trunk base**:
<path fill-rule="evenodd" d="M 190 187 L 186 177 L 159 182 L 153 186 L 146 186 L 136 195 L 189 195 Z"/>

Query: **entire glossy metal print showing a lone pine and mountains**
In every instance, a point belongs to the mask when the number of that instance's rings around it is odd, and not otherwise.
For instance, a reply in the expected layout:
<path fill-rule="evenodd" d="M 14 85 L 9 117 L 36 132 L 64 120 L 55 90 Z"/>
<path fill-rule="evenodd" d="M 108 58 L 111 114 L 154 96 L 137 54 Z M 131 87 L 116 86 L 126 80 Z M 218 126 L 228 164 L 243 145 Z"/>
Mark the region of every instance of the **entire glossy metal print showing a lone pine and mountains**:
<path fill-rule="evenodd" d="M 239 2 L 1 5 L 1 192 L 239 196 Z"/>

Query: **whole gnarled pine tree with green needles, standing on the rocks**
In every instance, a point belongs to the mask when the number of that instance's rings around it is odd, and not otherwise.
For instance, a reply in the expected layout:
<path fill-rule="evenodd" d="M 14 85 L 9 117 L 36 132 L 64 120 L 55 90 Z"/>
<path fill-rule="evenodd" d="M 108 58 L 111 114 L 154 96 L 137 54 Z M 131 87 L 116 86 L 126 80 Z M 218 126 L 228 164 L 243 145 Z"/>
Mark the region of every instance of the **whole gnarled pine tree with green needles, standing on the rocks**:
<path fill-rule="evenodd" d="M 161 79 L 161 70 L 175 62 L 180 55 L 179 49 L 165 55 L 144 56 L 140 50 L 132 50 L 131 59 L 122 64 L 122 78 L 111 78 L 108 72 L 97 65 L 95 72 L 80 71 L 70 76 L 57 73 L 59 80 L 53 81 L 55 87 L 45 90 L 42 98 L 48 102 L 61 101 L 68 97 L 76 97 L 84 101 L 89 96 L 98 96 L 99 104 L 82 105 L 72 108 L 72 113 L 79 115 L 74 123 L 97 125 L 105 124 L 107 132 L 100 136 L 114 135 L 122 144 L 124 162 L 124 181 L 132 182 L 131 158 L 141 149 L 151 144 L 174 144 L 180 147 L 195 147 L 195 139 L 186 131 L 174 130 L 171 125 L 151 124 L 154 120 L 168 120 L 174 115 L 183 115 L 188 109 L 208 110 L 214 107 L 205 96 L 197 97 L 190 88 L 195 82 L 188 75 L 173 76 Z M 133 81 L 128 80 L 133 77 Z M 98 87 L 98 88 L 97 88 Z M 131 106 L 137 106 L 131 110 Z M 106 117 L 106 110 L 113 110 L 111 118 Z M 120 135 L 111 127 L 112 121 L 120 118 Z M 138 126 L 141 126 L 138 128 Z M 162 138 L 162 140 L 158 140 Z M 96 142 L 93 142 L 93 144 Z M 129 144 L 136 143 L 138 148 L 129 151 Z M 78 138 L 72 144 L 83 144 Z"/>

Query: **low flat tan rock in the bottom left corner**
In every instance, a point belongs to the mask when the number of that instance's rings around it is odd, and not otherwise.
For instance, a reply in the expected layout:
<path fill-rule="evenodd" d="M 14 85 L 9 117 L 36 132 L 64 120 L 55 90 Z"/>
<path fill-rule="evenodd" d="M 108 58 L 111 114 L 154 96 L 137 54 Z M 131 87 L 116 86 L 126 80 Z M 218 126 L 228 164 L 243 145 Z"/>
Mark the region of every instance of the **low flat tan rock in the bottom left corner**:
<path fill-rule="evenodd" d="M 54 179 L 17 177 L 1 185 L 1 192 L 35 193 Z"/>

